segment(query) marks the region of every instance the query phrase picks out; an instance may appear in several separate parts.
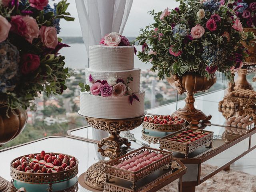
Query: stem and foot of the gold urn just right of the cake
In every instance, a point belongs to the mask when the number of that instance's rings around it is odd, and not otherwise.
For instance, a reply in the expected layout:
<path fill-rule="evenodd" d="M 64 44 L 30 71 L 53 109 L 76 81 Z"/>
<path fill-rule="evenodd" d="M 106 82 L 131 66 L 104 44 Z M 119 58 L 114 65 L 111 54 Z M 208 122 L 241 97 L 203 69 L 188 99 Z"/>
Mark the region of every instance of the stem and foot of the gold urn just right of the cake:
<path fill-rule="evenodd" d="M 194 94 L 186 93 L 187 97 L 185 98 L 186 105 L 183 109 L 178 109 L 172 114 L 172 116 L 177 116 L 178 118 L 183 118 L 189 123 L 192 120 L 196 121 L 208 121 L 212 118 L 211 115 L 206 116 L 201 110 L 198 110 L 194 107 Z"/>

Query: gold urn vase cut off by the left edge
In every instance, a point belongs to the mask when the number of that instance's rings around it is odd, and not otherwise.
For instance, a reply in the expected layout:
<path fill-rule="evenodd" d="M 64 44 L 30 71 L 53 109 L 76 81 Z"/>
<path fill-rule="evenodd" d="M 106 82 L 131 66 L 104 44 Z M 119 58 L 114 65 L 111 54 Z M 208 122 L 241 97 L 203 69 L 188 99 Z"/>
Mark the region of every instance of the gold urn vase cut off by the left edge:
<path fill-rule="evenodd" d="M 16 138 L 26 126 L 28 115 L 24 109 L 13 112 L 0 106 L 0 146 Z"/>

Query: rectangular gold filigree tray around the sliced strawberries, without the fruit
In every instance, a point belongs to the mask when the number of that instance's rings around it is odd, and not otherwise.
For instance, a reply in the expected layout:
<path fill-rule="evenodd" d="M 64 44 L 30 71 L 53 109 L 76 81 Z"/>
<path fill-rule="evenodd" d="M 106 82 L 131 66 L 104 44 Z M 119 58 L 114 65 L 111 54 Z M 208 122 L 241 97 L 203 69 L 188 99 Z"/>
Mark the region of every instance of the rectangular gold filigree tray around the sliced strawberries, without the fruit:
<path fill-rule="evenodd" d="M 168 140 L 168 138 L 172 138 L 176 136 L 177 134 L 181 133 L 182 131 L 187 131 L 187 130 L 192 130 L 192 131 L 201 131 L 201 132 L 208 132 L 209 134 L 199 138 L 198 140 L 195 140 L 191 143 L 181 143 L 178 141 L 171 141 Z M 180 152 L 182 154 L 185 154 L 185 157 L 188 157 L 188 154 L 206 144 L 210 144 L 209 148 L 212 147 L 212 142 L 213 142 L 213 132 L 212 131 L 206 131 L 206 130 L 201 130 L 201 129 L 195 129 L 195 128 L 185 128 L 183 130 L 174 132 L 172 134 L 169 134 L 167 136 L 164 136 L 159 139 L 160 141 L 160 149 L 167 149 L 167 150 L 172 150 L 176 152 Z"/>

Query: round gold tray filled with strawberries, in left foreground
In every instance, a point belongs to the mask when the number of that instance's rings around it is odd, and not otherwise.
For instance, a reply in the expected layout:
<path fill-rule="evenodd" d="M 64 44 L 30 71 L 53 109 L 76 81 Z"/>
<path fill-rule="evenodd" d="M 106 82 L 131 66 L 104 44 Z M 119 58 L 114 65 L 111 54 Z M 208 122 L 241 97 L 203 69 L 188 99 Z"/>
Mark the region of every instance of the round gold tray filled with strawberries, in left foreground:
<path fill-rule="evenodd" d="M 10 176 L 17 182 L 52 184 L 66 182 L 78 174 L 78 160 L 67 154 L 41 153 L 24 155 L 10 163 Z"/>

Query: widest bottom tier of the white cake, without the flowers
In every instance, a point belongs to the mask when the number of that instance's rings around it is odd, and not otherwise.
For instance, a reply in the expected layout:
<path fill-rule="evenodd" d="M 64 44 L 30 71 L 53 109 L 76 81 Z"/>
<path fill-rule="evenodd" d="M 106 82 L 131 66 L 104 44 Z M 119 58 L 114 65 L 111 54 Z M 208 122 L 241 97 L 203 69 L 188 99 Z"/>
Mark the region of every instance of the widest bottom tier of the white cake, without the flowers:
<path fill-rule="evenodd" d="M 140 101 L 133 99 L 130 104 L 129 95 L 120 98 L 94 96 L 89 92 L 80 92 L 79 114 L 87 117 L 105 119 L 134 118 L 144 115 L 145 92 L 136 93 Z"/>

